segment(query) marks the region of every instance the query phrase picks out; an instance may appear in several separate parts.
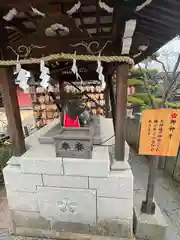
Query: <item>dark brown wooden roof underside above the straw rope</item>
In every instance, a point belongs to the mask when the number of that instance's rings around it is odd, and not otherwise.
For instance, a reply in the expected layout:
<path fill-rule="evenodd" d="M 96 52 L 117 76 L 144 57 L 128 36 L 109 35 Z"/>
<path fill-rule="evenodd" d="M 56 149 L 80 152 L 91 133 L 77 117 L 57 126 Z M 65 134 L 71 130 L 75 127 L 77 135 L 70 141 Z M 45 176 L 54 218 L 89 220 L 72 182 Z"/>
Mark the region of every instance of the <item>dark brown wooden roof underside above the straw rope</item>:
<path fill-rule="evenodd" d="M 69 16 L 68 11 L 79 2 L 80 7 Z M 109 9 L 103 8 L 100 2 Z M 137 10 L 146 2 L 147 5 Z M 15 51 L 22 45 L 43 47 L 32 49 L 31 57 L 58 52 L 88 53 L 87 49 L 97 54 L 103 47 L 104 55 L 122 55 L 125 25 L 128 20 L 135 20 L 132 44 L 125 55 L 136 57 L 138 62 L 175 37 L 180 30 L 180 0 L 6 0 L 0 2 L 2 18 L 7 17 L 13 8 L 17 11 L 15 16 L 12 20 L 4 20 L 7 45 Z M 55 28 L 59 24 L 67 31 L 54 30 L 55 24 Z M 51 36 L 47 36 L 48 31 Z M 84 45 L 77 45 L 82 41 Z M 142 54 L 139 54 L 140 46 L 145 48 Z M 12 50 L 8 52 L 9 58 L 16 58 Z"/>

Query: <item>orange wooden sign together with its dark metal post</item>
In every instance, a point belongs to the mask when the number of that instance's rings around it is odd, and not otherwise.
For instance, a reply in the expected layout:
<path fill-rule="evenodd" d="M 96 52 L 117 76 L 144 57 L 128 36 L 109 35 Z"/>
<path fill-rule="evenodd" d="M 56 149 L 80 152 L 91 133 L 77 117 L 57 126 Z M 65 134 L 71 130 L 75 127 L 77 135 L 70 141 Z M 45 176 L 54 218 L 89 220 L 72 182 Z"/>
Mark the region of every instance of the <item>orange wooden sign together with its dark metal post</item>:
<path fill-rule="evenodd" d="M 154 185 L 159 156 L 176 157 L 180 141 L 180 110 L 150 109 L 142 113 L 139 154 L 151 155 L 146 200 L 141 212 L 155 213 Z"/>

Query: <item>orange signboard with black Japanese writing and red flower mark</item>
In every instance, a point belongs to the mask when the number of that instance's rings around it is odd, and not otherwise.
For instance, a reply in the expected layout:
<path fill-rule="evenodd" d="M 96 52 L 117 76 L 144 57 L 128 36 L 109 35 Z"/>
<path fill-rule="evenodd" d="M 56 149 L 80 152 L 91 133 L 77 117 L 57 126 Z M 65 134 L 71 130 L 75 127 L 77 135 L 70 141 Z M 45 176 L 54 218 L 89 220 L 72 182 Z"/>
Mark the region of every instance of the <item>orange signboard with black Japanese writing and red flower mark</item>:
<path fill-rule="evenodd" d="M 150 109 L 142 113 L 139 154 L 176 156 L 180 141 L 180 109 Z"/>

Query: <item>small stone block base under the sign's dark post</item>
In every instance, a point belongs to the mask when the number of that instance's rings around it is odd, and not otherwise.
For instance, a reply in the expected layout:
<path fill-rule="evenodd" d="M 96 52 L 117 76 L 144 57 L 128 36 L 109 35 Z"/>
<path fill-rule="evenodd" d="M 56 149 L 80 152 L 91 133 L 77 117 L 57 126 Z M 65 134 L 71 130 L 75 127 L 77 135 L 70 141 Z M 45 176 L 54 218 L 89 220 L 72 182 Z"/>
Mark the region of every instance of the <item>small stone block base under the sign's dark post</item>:
<path fill-rule="evenodd" d="M 144 196 L 136 194 L 134 197 L 134 226 L 135 236 L 140 239 L 164 240 L 168 224 L 165 221 L 160 208 L 156 204 L 154 215 L 143 214 L 140 212 L 141 203 Z"/>

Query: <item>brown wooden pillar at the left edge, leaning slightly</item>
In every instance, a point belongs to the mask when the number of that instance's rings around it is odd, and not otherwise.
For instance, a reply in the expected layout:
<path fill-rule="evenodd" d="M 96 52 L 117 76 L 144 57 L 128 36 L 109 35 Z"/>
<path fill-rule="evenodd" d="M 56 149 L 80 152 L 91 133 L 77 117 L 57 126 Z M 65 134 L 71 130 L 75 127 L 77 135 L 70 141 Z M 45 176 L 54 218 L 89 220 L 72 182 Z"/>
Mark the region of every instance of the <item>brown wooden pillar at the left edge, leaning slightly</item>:
<path fill-rule="evenodd" d="M 12 68 L 0 68 L 0 76 L 3 102 L 8 120 L 8 133 L 12 143 L 13 155 L 21 156 L 26 151 L 26 147 Z"/>

